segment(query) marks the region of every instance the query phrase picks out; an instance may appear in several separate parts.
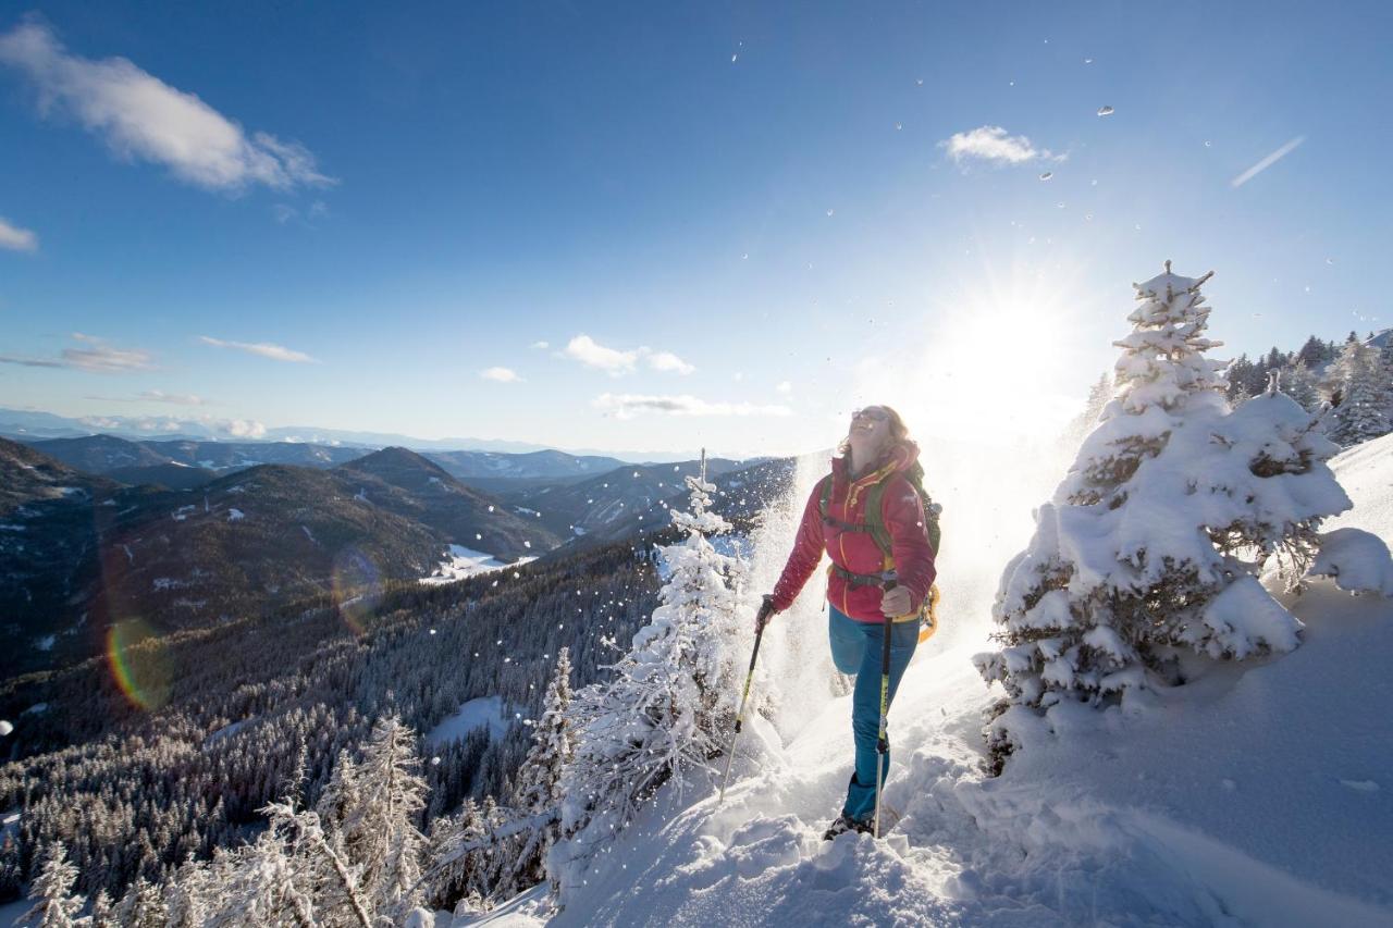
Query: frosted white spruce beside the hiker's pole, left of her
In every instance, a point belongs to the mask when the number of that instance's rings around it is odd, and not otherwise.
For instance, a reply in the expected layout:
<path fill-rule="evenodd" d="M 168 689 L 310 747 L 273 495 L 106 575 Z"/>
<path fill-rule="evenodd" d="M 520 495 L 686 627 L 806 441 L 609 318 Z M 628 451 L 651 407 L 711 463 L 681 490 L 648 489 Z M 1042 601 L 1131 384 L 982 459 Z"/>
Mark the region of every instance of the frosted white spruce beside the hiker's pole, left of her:
<path fill-rule="evenodd" d="M 552 885 L 564 896 L 639 805 L 669 779 L 724 748 L 738 698 L 734 680 L 737 603 L 745 564 L 719 553 L 712 535 L 730 523 L 710 511 L 715 485 L 688 477 L 691 510 L 673 510 L 687 534 L 659 549 L 670 571 L 652 621 L 610 670 L 571 702 L 575 755 L 561 778 L 563 840 L 547 856 Z"/>

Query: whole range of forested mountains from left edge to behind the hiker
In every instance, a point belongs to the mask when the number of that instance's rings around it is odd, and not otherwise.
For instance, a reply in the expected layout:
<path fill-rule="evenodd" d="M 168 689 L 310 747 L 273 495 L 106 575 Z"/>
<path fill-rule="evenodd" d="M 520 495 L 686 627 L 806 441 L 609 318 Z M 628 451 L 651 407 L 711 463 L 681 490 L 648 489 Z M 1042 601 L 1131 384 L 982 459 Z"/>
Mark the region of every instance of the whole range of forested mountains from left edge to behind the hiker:
<path fill-rule="evenodd" d="M 699 470 L 560 451 L 430 457 L 440 463 L 404 447 L 0 439 L 7 669 L 91 656 L 131 617 L 164 634 L 326 592 L 351 601 L 430 574 L 450 545 L 511 562 L 660 531 Z M 738 520 L 783 492 L 791 463 L 716 458 L 708 477 L 717 511 Z"/>

